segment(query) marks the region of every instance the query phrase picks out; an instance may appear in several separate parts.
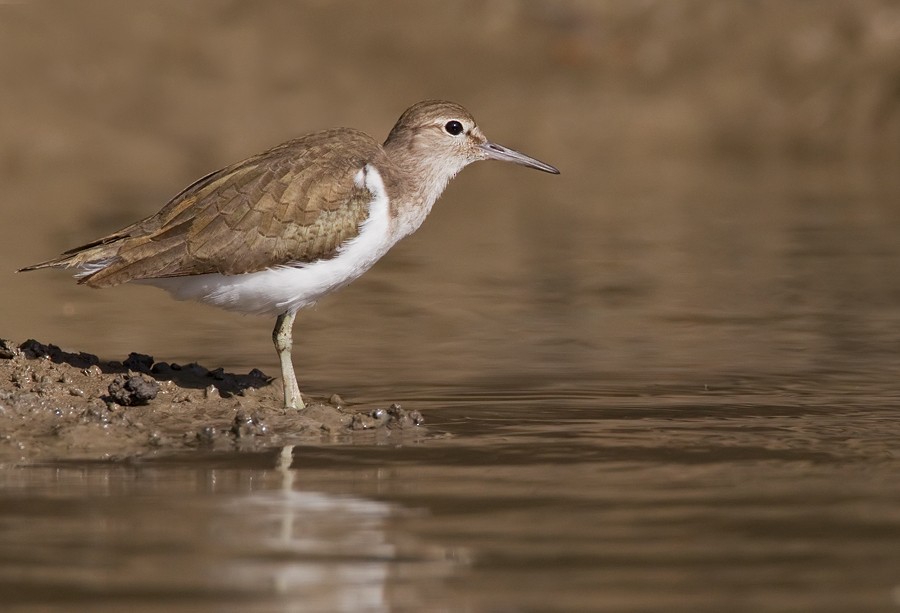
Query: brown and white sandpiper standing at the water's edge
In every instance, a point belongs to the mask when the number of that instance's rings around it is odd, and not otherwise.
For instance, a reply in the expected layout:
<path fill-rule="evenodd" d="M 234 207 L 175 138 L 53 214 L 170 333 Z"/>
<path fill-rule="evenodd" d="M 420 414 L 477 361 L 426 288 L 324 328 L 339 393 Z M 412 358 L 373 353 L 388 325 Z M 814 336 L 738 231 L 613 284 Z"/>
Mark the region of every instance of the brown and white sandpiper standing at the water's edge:
<path fill-rule="evenodd" d="M 302 409 L 291 361 L 297 311 L 415 232 L 448 181 L 479 160 L 559 174 L 490 142 L 462 106 L 426 100 L 383 145 L 350 128 L 301 136 L 206 175 L 146 219 L 21 270 L 74 268 L 89 287 L 135 281 L 276 316 L 284 405 Z"/>

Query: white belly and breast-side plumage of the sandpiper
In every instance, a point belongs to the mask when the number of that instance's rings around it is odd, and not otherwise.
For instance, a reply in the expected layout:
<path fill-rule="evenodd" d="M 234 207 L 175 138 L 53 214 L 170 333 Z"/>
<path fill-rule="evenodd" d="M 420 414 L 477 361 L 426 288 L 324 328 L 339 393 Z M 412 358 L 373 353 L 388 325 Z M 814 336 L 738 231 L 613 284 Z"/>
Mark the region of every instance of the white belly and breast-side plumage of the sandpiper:
<path fill-rule="evenodd" d="M 369 216 L 359 234 L 330 259 L 285 263 L 243 275 L 208 274 L 140 282 L 161 287 L 179 300 L 198 300 L 241 313 L 278 315 L 309 306 L 362 275 L 400 238 L 391 231 L 390 202 L 378 170 L 367 164 L 354 180 L 374 195 Z"/>

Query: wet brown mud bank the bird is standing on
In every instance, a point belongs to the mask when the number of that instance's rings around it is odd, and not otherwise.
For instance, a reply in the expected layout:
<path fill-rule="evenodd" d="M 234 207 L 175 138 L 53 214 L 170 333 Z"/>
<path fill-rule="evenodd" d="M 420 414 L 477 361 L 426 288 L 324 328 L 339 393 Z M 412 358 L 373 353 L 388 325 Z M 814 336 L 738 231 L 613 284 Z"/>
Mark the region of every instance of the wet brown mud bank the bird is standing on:
<path fill-rule="evenodd" d="M 280 381 L 256 369 L 234 374 L 138 353 L 103 361 L 0 340 L 0 465 L 424 434 L 422 416 L 396 404 L 354 410 L 337 395 L 304 400 L 302 411 L 283 409 Z"/>

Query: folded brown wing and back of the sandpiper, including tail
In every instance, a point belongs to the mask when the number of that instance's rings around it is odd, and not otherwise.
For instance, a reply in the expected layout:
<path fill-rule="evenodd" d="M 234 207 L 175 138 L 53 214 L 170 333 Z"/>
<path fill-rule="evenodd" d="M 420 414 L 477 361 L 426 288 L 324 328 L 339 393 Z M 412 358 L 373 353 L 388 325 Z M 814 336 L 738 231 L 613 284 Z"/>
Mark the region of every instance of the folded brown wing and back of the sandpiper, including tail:
<path fill-rule="evenodd" d="M 80 282 L 108 287 L 328 258 L 368 215 L 372 195 L 354 176 L 383 156 L 362 132 L 310 134 L 212 173 L 157 214 L 29 269 L 102 266 Z"/>

